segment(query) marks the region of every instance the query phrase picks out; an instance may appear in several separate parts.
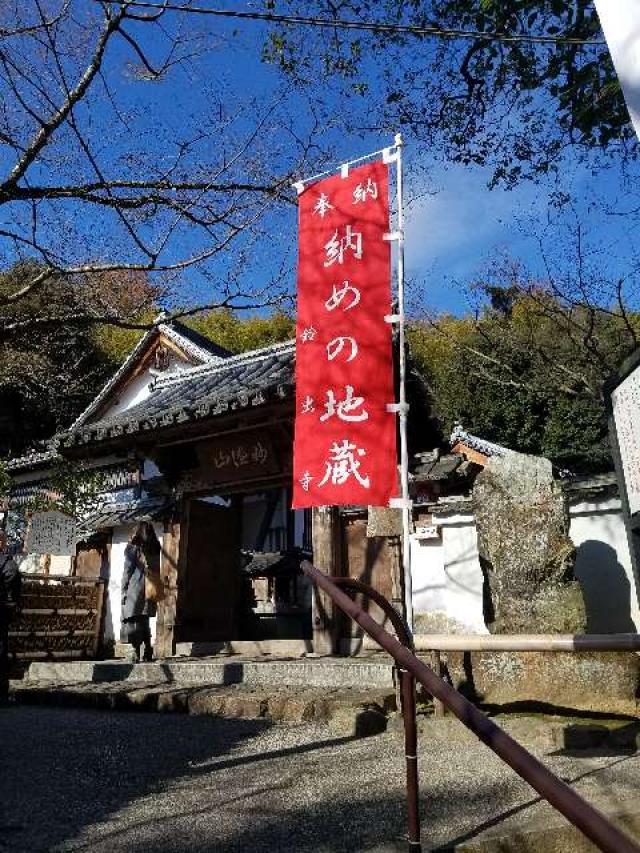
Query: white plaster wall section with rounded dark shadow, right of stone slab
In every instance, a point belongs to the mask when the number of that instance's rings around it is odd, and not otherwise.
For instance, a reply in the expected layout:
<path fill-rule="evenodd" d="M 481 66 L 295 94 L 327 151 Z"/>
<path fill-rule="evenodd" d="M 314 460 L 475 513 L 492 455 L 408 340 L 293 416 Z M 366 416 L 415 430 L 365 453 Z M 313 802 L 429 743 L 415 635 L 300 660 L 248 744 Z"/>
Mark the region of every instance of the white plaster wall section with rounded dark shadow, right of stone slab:
<path fill-rule="evenodd" d="M 576 548 L 590 633 L 640 630 L 640 608 L 618 498 L 574 503 L 569 532 Z"/>

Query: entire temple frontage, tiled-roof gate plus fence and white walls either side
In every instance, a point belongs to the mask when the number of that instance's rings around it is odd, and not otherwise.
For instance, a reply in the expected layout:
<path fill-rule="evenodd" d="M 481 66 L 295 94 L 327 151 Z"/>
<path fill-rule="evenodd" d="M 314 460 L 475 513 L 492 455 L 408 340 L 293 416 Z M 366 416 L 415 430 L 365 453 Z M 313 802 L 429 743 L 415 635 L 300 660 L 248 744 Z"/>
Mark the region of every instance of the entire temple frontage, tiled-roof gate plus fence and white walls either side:
<path fill-rule="evenodd" d="M 366 648 L 358 629 L 300 574 L 303 556 L 328 574 L 371 584 L 402 610 L 397 510 L 291 509 L 294 361 L 292 341 L 233 355 L 180 323 L 158 322 L 65 433 L 10 460 L 0 523 L 29 576 L 26 609 L 12 626 L 18 655 L 124 652 L 124 550 L 142 519 L 162 544 L 162 600 L 152 620 L 158 657 L 358 654 Z M 422 633 L 486 633 L 472 490 L 487 460 L 512 451 L 461 429 L 447 447 L 414 372 L 408 392 L 416 641 Z M 30 507 L 61 460 L 98 472 L 100 494 L 79 519 L 75 554 L 30 553 Z M 578 478 L 564 488 L 589 624 L 637 629 L 615 478 Z M 607 603 L 613 577 L 624 587 L 622 610 Z"/>

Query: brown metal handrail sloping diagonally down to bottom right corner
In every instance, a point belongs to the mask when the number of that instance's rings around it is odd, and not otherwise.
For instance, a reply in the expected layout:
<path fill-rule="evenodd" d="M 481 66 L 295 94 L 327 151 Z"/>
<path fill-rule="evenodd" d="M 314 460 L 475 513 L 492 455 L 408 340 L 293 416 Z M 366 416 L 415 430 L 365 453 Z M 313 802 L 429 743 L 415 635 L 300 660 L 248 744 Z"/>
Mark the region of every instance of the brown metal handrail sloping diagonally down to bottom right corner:
<path fill-rule="evenodd" d="M 385 631 L 359 603 L 349 598 L 334 583 L 334 580 L 340 583 L 340 579 L 327 577 L 308 562 L 302 564 L 302 570 L 327 593 L 340 610 L 350 616 L 385 651 L 389 652 L 401 671 L 411 673 L 434 698 L 439 699 L 460 722 L 512 767 L 543 799 L 593 841 L 599 850 L 603 850 L 604 853 L 640 853 L 640 847 L 627 835 L 620 832 L 601 812 L 547 769 L 544 764 L 513 740 L 457 690 L 454 690 L 436 675 L 430 667 L 413 654 L 410 648 L 402 645 L 392 634 Z M 366 590 L 360 589 L 359 591 L 366 594 Z M 381 596 L 379 593 L 375 595 L 379 604 Z M 387 607 L 391 608 L 388 602 L 386 604 Z M 387 611 L 387 607 L 384 608 L 385 611 Z M 397 613 L 396 616 L 400 618 Z M 420 849 L 418 839 L 410 837 L 409 843 L 411 850 Z"/>

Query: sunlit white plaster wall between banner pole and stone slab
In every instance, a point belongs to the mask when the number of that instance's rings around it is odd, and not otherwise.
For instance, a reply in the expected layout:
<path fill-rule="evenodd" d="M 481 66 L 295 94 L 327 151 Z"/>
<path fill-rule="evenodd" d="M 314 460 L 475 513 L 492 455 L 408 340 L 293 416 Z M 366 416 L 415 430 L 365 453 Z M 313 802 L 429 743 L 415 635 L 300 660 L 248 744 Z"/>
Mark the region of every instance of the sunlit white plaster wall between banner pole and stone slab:
<path fill-rule="evenodd" d="M 429 613 L 443 632 L 486 634 L 482 570 L 471 513 L 434 519 L 441 539 L 412 539 L 414 614 Z"/>

